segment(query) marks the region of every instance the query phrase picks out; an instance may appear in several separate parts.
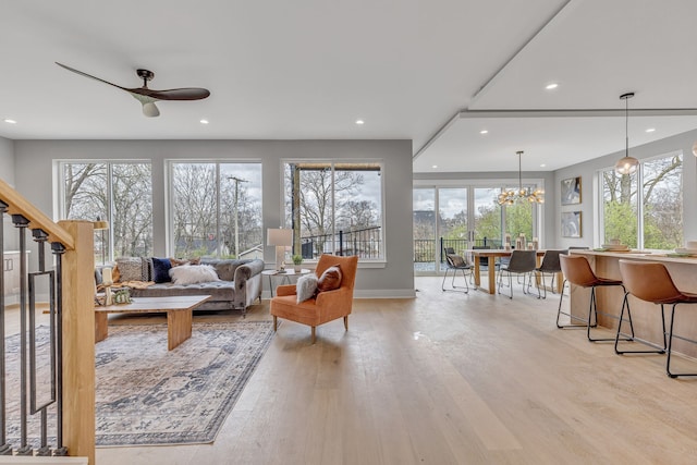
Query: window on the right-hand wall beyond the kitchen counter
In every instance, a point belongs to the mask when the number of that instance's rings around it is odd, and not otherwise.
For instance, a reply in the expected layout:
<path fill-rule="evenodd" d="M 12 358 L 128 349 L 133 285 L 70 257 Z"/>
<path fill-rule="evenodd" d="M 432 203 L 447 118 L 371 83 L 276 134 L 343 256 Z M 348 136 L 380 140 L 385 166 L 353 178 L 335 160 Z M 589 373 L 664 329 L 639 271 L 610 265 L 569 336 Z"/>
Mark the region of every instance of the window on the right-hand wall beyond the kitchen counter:
<path fill-rule="evenodd" d="M 646 160 L 632 176 L 617 175 L 614 170 L 600 175 L 602 243 L 619 238 L 638 248 L 682 246 L 682 152 Z"/>

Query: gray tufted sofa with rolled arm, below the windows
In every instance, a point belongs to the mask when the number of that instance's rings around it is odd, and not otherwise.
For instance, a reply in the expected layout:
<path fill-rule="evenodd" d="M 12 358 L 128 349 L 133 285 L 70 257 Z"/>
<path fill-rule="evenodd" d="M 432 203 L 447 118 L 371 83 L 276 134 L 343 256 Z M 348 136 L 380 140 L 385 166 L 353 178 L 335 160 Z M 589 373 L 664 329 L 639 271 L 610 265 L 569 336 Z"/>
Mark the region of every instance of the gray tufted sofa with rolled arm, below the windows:
<path fill-rule="evenodd" d="M 146 260 L 146 259 L 144 259 Z M 220 281 L 198 284 L 173 284 L 171 282 L 152 284 L 144 289 L 131 289 L 132 297 L 163 297 L 174 295 L 211 295 L 197 310 L 239 309 L 243 314 L 257 298 L 261 302 L 260 259 L 211 259 L 203 258 L 201 265 L 216 269 Z M 151 276 L 151 274 L 150 274 Z M 149 280 L 149 279 L 148 279 Z"/>

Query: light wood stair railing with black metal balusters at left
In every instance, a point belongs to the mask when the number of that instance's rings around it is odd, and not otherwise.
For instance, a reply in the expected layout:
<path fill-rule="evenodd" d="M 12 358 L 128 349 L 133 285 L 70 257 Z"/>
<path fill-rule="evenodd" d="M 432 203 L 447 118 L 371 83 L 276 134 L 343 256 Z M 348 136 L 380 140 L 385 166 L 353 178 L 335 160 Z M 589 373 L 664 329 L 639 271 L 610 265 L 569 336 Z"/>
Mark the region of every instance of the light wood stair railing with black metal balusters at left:
<path fill-rule="evenodd" d="M 26 198 L 0 179 L 0 247 L 4 249 L 3 224 L 8 213 L 19 231 L 21 285 L 20 320 L 22 342 L 29 347 L 21 348 L 22 392 L 25 395 L 5 392 L 5 341 L 0 340 L 0 455 L 71 455 L 87 457 L 95 463 L 95 314 L 94 314 L 94 227 L 90 221 L 60 221 L 50 218 L 32 205 Z M 26 230 L 32 231 L 33 240 L 38 244 L 38 271 L 28 272 L 26 258 Z M 56 266 L 48 270 L 44 253 L 45 244 L 50 244 Z M 50 260 L 49 260 L 50 262 Z M 50 267 L 48 267 L 50 268 Z M 4 334 L 5 302 L 3 297 L 3 273 L 0 273 L 0 335 Z M 51 330 L 56 329 L 56 343 L 51 345 L 54 354 L 56 382 L 54 402 L 36 406 L 32 389 L 34 375 L 35 335 L 35 289 L 37 277 L 48 277 Z M 28 301 L 28 302 L 27 302 Z M 28 326 L 27 326 L 28 318 Z M 54 350 L 53 350 L 54 345 Z M 22 345 L 24 347 L 24 345 Z M 27 362 L 28 360 L 28 362 Z M 52 372 L 53 374 L 53 372 Z M 28 413 L 36 412 L 41 417 L 41 446 L 37 450 L 26 444 L 26 425 L 21 426 L 22 438 L 17 449 L 7 441 L 7 396 L 16 394 L 22 403 L 22 420 Z M 27 397 L 30 395 L 30 406 Z M 47 408 L 54 403 L 57 408 L 56 444 L 46 445 Z M 29 408 L 30 407 L 30 408 Z M 53 426 L 51 426 L 53 428 Z M 32 431 L 36 433 L 36 431 Z"/>

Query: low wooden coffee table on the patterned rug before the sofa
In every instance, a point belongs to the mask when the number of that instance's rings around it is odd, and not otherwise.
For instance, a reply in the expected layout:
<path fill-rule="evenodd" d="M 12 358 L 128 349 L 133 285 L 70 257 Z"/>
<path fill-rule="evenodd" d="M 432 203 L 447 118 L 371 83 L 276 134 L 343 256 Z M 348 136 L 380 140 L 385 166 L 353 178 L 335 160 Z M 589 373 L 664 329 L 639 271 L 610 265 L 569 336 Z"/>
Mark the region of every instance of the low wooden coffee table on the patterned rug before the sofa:
<path fill-rule="evenodd" d="M 192 336 L 193 310 L 210 295 L 188 295 L 173 297 L 135 297 L 131 304 L 114 304 L 95 307 L 95 342 L 109 335 L 107 317 L 109 314 L 155 314 L 167 313 L 167 350 L 171 351 Z"/>

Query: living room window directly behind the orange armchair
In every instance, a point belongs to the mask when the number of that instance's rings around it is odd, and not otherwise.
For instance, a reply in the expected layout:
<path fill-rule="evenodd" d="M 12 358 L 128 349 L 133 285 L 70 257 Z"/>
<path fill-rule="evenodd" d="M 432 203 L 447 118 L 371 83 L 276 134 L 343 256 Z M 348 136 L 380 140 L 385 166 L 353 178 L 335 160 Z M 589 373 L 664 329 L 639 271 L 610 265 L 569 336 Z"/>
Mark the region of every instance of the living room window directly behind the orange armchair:
<path fill-rule="evenodd" d="M 293 254 L 384 259 L 382 166 L 378 162 L 284 163 L 285 228 Z"/>

